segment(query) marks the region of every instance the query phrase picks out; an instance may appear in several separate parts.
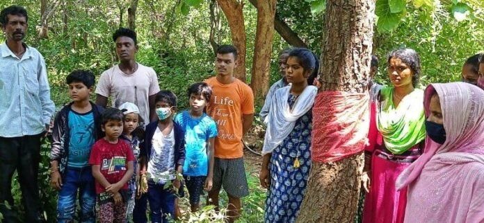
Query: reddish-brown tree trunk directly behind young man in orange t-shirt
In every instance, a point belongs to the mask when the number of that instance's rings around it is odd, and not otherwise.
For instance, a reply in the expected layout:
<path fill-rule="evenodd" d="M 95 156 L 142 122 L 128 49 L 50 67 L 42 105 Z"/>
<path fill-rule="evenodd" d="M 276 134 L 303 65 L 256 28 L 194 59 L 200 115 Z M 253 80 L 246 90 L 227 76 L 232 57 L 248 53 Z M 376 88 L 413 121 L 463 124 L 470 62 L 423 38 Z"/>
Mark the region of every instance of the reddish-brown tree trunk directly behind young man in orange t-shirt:
<path fill-rule="evenodd" d="M 229 23 L 232 44 L 237 48 L 237 66 L 234 76 L 245 82 L 245 25 L 243 23 L 243 4 L 238 0 L 217 0 Z"/>

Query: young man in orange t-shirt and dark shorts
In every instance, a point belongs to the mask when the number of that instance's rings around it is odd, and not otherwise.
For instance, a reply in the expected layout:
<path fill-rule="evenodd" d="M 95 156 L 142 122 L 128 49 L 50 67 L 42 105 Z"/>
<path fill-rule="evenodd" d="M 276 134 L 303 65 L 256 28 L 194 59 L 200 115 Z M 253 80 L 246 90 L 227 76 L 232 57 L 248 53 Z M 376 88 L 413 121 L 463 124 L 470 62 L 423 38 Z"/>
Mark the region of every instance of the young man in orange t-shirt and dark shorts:
<path fill-rule="evenodd" d="M 220 46 L 215 60 L 217 75 L 205 81 L 213 91 L 207 114 L 216 121 L 218 127 L 209 204 L 218 208 L 218 194 L 223 187 L 229 197 L 229 222 L 239 217 L 241 197 L 249 194 L 243 165 L 242 137 L 254 119 L 252 89 L 234 78 L 236 59 L 234 46 Z"/>

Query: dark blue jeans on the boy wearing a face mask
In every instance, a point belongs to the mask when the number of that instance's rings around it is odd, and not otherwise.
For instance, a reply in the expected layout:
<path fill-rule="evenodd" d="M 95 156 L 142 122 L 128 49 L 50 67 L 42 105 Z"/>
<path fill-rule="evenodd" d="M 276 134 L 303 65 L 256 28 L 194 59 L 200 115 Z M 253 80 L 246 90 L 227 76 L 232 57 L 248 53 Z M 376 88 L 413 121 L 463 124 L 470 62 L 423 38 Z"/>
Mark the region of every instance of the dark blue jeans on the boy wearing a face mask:
<path fill-rule="evenodd" d="M 175 192 L 171 188 L 163 189 L 164 186 L 148 181 L 150 217 L 153 223 L 168 223 L 175 216 Z"/>

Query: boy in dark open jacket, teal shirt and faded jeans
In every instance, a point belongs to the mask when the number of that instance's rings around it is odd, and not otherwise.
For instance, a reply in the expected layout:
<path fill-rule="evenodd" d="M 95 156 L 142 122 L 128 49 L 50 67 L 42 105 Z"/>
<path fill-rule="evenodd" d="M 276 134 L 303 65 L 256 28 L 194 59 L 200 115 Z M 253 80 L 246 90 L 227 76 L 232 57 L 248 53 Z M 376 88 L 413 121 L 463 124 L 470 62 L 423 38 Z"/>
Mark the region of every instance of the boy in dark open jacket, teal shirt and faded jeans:
<path fill-rule="evenodd" d="M 92 145 L 104 135 L 100 125 L 104 109 L 89 101 L 94 74 L 74 71 L 65 79 L 72 102 L 56 115 L 50 155 L 51 185 L 59 190 L 57 221 L 73 222 L 79 199 L 81 210 L 76 220 L 94 223 L 95 180 L 88 160 Z"/>

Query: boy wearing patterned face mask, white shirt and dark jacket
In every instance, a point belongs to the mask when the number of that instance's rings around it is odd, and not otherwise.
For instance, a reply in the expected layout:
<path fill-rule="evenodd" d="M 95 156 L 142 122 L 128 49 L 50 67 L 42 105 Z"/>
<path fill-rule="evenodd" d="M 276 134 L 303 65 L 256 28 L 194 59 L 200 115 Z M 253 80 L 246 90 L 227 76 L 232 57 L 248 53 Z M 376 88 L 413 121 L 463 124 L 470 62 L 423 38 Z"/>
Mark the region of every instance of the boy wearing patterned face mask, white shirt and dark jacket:
<path fill-rule="evenodd" d="M 159 91 L 155 99 L 159 121 L 147 125 L 145 140 L 140 145 L 142 181 L 147 181 L 147 198 L 152 222 L 168 222 L 175 216 L 175 190 L 179 189 L 185 161 L 184 130 L 172 119 L 177 96 L 171 91 Z M 165 188 L 167 183 L 172 186 Z M 171 217 L 170 217 L 171 216 Z"/>

